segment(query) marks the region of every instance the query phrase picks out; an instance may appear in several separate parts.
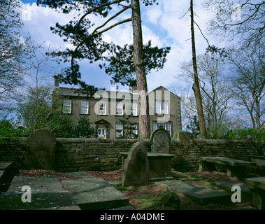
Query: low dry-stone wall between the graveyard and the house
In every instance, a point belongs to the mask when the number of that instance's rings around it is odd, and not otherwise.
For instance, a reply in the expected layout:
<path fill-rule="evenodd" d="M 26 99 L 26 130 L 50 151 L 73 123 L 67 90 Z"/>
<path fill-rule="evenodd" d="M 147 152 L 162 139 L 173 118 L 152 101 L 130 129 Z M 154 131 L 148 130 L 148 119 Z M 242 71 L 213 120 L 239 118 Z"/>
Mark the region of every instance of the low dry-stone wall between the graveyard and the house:
<path fill-rule="evenodd" d="M 27 139 L 22 139 L 27 142 Z M 121 152 L 128 152 L 136 139 L 60 139 L 57 138 L 55 170 L 111 171 L 122 168 Z M 150 141 L 143 140 L 150 151 Z M 27 146 L 25 144 L 0 145 L 0 161 L 17 161 L 24 165 Z M 250 155 L 262 155 L 259 148 L 249 141 L 196 140 L 182 144 L 171 140 L 170 153 L 176 155 L 171 167 L 180 172 L 196 171 L 200 156 L 224 156 L 250 161 Z"/>

